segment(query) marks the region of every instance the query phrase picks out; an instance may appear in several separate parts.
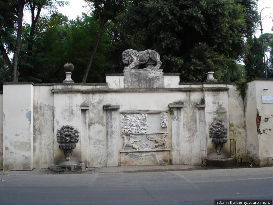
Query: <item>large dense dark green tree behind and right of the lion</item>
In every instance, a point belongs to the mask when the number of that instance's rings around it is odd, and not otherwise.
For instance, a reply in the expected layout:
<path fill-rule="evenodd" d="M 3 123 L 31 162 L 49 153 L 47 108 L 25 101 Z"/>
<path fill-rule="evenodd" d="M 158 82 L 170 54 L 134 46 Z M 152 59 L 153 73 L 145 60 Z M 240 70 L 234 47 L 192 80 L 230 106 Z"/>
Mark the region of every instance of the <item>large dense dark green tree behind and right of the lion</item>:
<path fill-rule="evenodd" d="M 164 72 L 181 73 L 181 81 L 205 80 L 207 62 L 218 80 L 235 81 L 236 61 L 258 21 L 255 9 L 250 0 L 134 1 L 118 17 L 119 45 L 156 50 Z"/>

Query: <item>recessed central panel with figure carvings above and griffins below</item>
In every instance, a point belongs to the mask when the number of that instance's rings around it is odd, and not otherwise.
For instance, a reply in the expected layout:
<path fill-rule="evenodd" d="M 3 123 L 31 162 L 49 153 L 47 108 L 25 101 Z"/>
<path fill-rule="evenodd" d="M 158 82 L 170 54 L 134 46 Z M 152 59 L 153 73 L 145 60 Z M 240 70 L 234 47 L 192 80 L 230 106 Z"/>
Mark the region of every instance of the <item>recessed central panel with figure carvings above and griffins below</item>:
<path fill-rule="evenodd" d="M 121 137 L 123 150 L 169 149 L 168 113 L 121 113 Z"/>

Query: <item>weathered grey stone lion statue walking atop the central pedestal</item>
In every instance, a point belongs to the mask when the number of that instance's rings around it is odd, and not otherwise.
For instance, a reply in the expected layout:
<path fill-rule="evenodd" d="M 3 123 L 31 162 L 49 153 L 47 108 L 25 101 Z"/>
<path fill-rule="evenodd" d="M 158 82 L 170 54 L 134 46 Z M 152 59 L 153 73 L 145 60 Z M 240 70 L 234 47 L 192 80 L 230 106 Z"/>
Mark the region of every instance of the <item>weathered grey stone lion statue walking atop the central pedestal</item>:
<path fill-rule="evenodd" d="M 137 51 L 133 49 L 127 49 L 122 53 L 122 62 L 124 64 L 129 64 L 129 66 L 124 67 L 126 69 L 138 69 L 140 64 L 146 63 L 146 68 L 144 69 L 158 69 L 162 62 L 160 61 L 160 56 L 155 50 L 143 50 Z M 153 64 L 157 64 L 153 66 Z"/>

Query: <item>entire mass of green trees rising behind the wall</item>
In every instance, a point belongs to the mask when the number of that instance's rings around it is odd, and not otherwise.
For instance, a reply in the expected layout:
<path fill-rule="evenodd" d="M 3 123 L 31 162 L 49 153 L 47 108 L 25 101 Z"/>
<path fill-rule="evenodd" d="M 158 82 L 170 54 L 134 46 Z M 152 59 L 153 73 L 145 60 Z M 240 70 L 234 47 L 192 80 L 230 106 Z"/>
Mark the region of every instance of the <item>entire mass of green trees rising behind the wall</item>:
<path fill-rule="evenodd" d="M 56 4 L 64 6 L 64 1 L 22 2 L 32 12 L 32 23 L 22 25 L 19 81 L 62 82 L 60 70 L 71 62 L 75 82 L 103 82 L 104 73 L 123 71 L 121 53 L 126 49 L 156 50 L 164 73 L 181 73 L 182 82 L 203 82 L 207 62 L 214 63 L 219 81 L 263 75 L 261 45 L 252 37 L 258 22 L 256 0 L 86 0 L 91 13 L 72 21 L 57 12 Z M 1 1 L 0 8 L 1 51 L 11 54 L 19 1 Z M 42 8 L 51 14 L 41 16 Z M 272 36 L 265 39 L 271 48 Z M 0 56 L 1 73 L 12 76 L 5 52 Z"/>

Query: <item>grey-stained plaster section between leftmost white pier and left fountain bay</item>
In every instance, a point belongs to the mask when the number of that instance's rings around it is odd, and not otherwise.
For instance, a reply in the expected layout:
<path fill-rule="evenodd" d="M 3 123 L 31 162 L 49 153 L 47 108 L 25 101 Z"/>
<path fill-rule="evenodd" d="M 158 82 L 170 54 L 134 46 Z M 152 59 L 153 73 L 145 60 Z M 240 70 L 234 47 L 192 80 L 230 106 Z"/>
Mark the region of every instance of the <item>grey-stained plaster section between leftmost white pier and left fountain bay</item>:
<path fill-rule="evenodd" d="M 35 86 L 33 100 L 33 167 L 45 169 L 54 162 L 52 86 Z"/>

